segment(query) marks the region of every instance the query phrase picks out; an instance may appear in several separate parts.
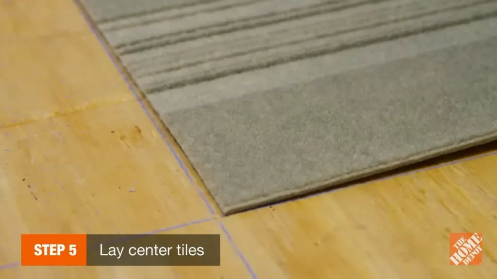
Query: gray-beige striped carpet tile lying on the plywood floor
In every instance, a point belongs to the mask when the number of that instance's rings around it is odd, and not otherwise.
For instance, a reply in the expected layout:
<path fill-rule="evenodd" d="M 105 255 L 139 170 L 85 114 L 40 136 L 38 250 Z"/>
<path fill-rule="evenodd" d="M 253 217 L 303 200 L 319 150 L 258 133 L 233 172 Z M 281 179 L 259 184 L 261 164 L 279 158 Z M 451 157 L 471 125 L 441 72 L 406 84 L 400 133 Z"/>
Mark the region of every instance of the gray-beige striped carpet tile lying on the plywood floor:
<path fill-rule="evenodd" d="M 497 0 L 127 3 L 83 0 L 226 214 L 497 139 Z"/>

